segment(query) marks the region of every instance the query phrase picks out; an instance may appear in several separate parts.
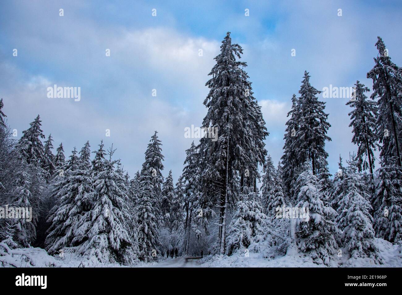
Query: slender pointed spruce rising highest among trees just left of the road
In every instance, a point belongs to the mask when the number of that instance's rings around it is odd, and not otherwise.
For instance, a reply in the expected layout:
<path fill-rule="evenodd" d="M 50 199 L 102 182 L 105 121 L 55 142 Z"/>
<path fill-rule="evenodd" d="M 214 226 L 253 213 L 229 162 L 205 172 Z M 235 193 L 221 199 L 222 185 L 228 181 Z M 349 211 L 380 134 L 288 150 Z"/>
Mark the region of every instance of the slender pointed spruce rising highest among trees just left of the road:
<path fill-rule="evenodd" d="M 150 170 L 152 177 L 152 187 L 155 198 L 153 199 L 156 203 L 154 207 L 157 209 L 156 218 L 158 222 L 159 229 L 164 227 L 164 218 L 160 216 L 161 212 L 161 204 L 162 204 L 162 184 L 163 184 L 163 164 L 162 161 L 164 156 L 162 155 L 162 145 L 161 141 L 158 139 L 156 135 L 158 132 L 155 131 L 155 134 L 152 135 L 150 139 L 150 143 L 145 151 L 145 162 L 142 164 L 142 170 Z"/>

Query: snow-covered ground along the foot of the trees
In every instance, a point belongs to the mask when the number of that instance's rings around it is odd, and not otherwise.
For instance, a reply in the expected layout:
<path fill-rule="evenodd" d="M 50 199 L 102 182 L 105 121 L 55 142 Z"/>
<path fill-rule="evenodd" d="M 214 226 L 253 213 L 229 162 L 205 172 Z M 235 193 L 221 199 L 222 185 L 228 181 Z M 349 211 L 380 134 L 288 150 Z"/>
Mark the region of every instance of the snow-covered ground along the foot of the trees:
<path fill-rule="evenodd" d="M 384 264 L 375 264 L 370 258 L 348 259 L 347 255 L 332 259 L 331 267 L 402 267 L 402 245 L 392 244 L 376 238 Z M 82 260 L 80 256 L 64 253 L 50 256 L 41 248 L 23 248 L 0 252 L 0 267 L 127 267 L 117 263 L 105 264 L 98 261 Z M 139 261 L 131 267 L 325 267 L 315 264 L 308 255 L 263 257 L 262 253 L 244 254 L 235 252 L 232 256 L 208 255 L 203 258 L 184 257 L 160 258 L 152 262 Z"/>

